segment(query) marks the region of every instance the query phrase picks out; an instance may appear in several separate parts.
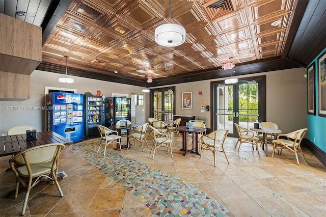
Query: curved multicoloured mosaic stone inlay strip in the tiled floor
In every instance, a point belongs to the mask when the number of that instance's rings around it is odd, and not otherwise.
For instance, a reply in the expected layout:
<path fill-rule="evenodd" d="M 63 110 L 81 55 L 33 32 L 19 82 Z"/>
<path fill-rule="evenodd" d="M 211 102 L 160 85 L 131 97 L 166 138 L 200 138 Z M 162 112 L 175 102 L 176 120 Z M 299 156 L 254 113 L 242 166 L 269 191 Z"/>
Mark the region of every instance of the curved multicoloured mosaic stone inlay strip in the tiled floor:
<path fill-rule="evenodd" d="M 70 149 L 137 196 L 155 216 L 226 216 L 229 210 L 196 186 L 139 161 L 107 151 L 96 153 L 99 140 Z"/>

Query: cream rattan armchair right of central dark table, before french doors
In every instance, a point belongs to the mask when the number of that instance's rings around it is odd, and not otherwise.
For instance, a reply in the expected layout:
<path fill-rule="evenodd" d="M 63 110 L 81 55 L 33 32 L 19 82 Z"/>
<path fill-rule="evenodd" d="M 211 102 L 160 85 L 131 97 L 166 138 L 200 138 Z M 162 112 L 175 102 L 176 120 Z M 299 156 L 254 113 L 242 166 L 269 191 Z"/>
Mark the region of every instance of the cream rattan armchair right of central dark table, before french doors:
<path fill-rule="evenodd" d="M 216 152 L 223 152 L 225 155 L 226 160 L 229 163 L 228 157 L 226 156 L 225 150 L 224 150 L 224 142 L 225 139 L 228 136 L 228 129 L 220 129 L 210 132 L 208 135 L 203 135 L 201 139 L 201 155 L 199 158 L 203 155 L 203 150 L 210 150 L 214 155 L 214 167 L 216 167 Z"/>

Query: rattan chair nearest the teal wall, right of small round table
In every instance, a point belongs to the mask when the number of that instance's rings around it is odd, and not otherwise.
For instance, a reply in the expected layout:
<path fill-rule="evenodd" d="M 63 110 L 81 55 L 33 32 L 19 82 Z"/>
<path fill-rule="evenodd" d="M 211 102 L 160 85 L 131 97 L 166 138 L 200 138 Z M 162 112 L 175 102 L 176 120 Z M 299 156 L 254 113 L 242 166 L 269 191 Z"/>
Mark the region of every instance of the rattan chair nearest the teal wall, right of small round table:
<path fill-rule="evenodd" d="M 294 153 L 296 163 L 297 163 L 297 165 L 300 165 L 299 160 L 297 158 L 297 154 L 296 154 L 296 150 L 299 149 L 299 151 L 302 154 L 302 157 L 306 161 L 305 155 L 301 150 L 300 144 L 301 144 L 301 141 L 303 140 L 307 130 L 308 130 L 307 128 L 303 128 L 303 129 L 299 129 L 299 130 L 296 130 L 293 132 L 289 132 L 287 134 L 279 134 L 277 137 L 277 140 L 273 141 L 273 152 L 271 153 L 271 157 L 274 156 L 275 149 L 277 149 L 277 150 L 280 149 L 281 150 L 280 154 L 282 154 L 283 149 L 287 149 Z"/>

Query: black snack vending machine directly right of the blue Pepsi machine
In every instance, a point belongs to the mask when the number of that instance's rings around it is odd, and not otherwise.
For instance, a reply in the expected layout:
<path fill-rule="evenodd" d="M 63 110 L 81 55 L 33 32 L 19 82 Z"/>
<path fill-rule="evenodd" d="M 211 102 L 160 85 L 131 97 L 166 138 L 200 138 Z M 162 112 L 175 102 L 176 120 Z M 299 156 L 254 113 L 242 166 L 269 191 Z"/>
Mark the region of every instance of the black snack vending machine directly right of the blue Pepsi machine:
<path fill-rule="evenodd" d="M 105 126 L 105 96 L 84 96 L 85 137 L 99 136 L 97 125 Z"/>

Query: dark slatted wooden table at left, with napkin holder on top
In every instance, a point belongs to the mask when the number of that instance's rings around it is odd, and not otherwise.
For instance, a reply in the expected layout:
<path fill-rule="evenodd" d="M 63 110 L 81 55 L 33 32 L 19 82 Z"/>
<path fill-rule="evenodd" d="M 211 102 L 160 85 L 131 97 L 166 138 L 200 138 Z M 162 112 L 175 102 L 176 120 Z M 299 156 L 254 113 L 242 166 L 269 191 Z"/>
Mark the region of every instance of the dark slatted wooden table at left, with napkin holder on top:
<path fill-rule="evenodd" d="M 26 140 L 26 134 L 4 135 L 0 137 L 0 157 L 17 154 L 35 146 L 50 143 L 73 144 L 73 141 L 54 131 L 36 132 L 35 140 Z"/>

